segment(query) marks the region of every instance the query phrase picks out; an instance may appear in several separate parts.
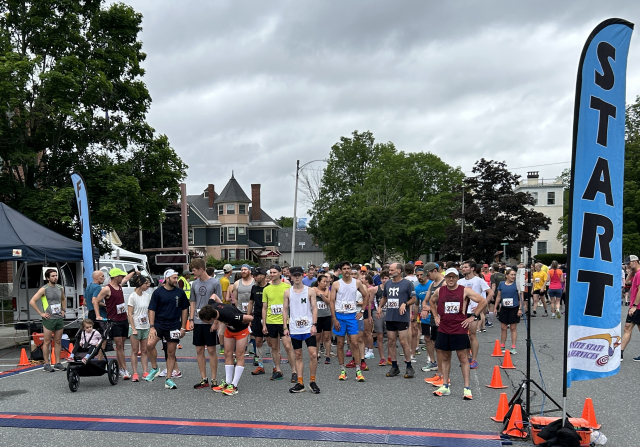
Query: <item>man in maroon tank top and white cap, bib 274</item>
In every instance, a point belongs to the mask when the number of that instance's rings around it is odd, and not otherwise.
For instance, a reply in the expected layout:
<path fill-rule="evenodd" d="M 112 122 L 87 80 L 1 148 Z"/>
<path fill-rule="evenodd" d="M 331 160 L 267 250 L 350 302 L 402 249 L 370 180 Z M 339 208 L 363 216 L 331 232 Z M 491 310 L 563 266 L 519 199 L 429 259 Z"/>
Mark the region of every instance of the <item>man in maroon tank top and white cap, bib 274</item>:
<path fill-rule="evenodd" d="M 487 305 L 487 301 L 472 289 L 458 285 L 458 270 L 447 269 L 445 272 L 446 287 L 440 287 L 431 296 L 431 314 L 438 326 L 436 350 L 438 362 L 442 362 L 443 384 L 433 392 L 436 396 L 448 396 L 449 373 L 451 372 L 451 352 L 456 351 L 462 365 L 464 378 L 464 399 L 471 400 L 473 396 L 469 388 L 469 325 L 480 319 L 480 314 Z M 478 303 L 474 316 L 466 316 L 466 309 L 470 301 Z"/>

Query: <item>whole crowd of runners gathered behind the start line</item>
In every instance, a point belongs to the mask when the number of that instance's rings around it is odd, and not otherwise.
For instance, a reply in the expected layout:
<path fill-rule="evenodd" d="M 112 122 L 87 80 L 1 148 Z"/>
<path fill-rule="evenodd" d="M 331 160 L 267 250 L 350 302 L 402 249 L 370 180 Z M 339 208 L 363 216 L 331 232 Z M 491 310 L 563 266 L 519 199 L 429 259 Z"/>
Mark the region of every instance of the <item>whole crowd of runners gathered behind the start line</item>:
<path fill-rule="evenodd" d="M 550 266 L 534 263 L 531 270 L 531 316 L 563 318 L 566 269 L 554 261 Z M 622 300 L 629 305 L 623 350 L 633 327 L 640 329 L 640 312 L 636 312 L 640 304 L 638 270 L 638 258 L 629 257 L 622 273 Z M 105 287 L 104 274 L 94 272 L 94 282 L 86 289 L 89 318 L 83 321 L 85 332 L 77 340 L 73 355 L 78 348 L 80 352 L 92 352 L 106 343 L 96 332 L 100 334 L 101 323 L 108 318 L 113 321 L 110 337 L 124 380 L 152 382 L 166 376 L 165 388 L 176 389 L 174 379 L 182 377 L 176 349 L 191 330 L 200 373 L 194 388 L 237 394 L 245 358 L 253 356 L 251 375 L 283 380 L 282 365 L 288 364 L 293 384 L 289 391 L 308 389 L 317 394 L 319 362 L 329 365 L 337 359 L 339 381 L 351 376 L 364 382 L 371 360 L 389 368 L 387 377 L 412 379 L 416 374 L 414 364 L 424 354 L 420 369 L 433 373 L 425 381 L 436 388 L 435 396 L 447 396 L 451 393 L 449 376 L 455 352 L 464 380 L 463 398 L 470 400 L 470 369 L 479 367 L 478 334 L 494 326 L 495 320 L 500 325 L 502 351 L 509 349 L 512 355 L 517 354 L 518 324 L 527 310 L 523 264 L 416 261 L 376 269 L 345 261 L 334 266 L 324 263 L 319 268 L 311 265 L 306 270 L 243 265 L 233 283 L 229 280 L 231 265 L 224 271 L 219 281 L 204 260 L 195 259 L 190 270 L 182 274 L 167 270 L 162 285 L 152 294 L 148 293 L 149 279 L 138 272 L 111 269 Z M 43 317 L 44 346 L 50 344 L 46 340 L 53 339 L 59 359 L 66 300 L 57 284 L 56 271 L 46 272 L 46 277 L 49 282 L 30 304 Z M 128 297 L 120 287 L 123 281 L 136 286 Z M 40 307 L 38 300 L 42 300 Z M 132 373 L 124 352 L 127 338 L 132 349 Z M 159 342 L 166 359 L 162 371 L 157 362 Z M 303 355 L 305 347 L 307 356 Z M 376 352 L 379 361 L 374 360 Z M 220 378 L 218 354 L 224 354 L 225 360 Z M 265 368 L 265 356 L 273 362 L 272 371 Z M 640 357 L 634 360 L 640 361 Z M 61 363 L 44 365 L 47 372 L 64 369 Z"/>

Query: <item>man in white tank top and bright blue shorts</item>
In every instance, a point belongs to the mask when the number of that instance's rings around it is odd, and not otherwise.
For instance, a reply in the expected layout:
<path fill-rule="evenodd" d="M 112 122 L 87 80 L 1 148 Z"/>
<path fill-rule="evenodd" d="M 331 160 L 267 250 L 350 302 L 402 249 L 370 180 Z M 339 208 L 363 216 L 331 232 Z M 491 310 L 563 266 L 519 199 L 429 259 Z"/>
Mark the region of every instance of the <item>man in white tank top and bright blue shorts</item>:
<path fill-rule="evenodd" d="M 351 263 L 340 263 L 342 278 L 334 281 L 331 286 L 331 320 L 333 321 L 333 333 L 337 336 L 338 362 L 340 363 L 340 376 L 338 380 L 347 380 L 347 371 L 344 364 L 344 339 L 349 336 L 349 347 L 352 352 L 359 352 L 358 345 L 358 320 L 364 316 L 362 311 L 356 310 L 357 292 L 363 297 L 362 306 L 367 307 L 369 295 L 367 289 L 359 279 L 351 277 Z M 336 273 L 338 273 L 336 271 Z M 364 358 L 360 359 L 364 363 Z M 364 376 L 360 370 L 360 364 L 356 362 L 356 380 L 364 382 Z"/>

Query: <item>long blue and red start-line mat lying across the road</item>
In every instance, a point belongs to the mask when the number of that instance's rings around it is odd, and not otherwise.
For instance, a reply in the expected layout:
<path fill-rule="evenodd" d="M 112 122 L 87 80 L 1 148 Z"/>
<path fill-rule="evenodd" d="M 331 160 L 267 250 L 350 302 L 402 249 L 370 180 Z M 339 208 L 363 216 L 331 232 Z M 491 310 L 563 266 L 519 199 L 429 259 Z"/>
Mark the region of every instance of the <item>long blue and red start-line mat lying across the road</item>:
<path fill-rule="evenodd" d="M 53 430 L 88 430 L 168 435 L 272 438 L 432 447 L 500 447 L 495 433 L 421 428 L 311 425 L 286 422 L 208 419 L 135 418 L 49 413 L 0 413 L 0 426 Z"/>

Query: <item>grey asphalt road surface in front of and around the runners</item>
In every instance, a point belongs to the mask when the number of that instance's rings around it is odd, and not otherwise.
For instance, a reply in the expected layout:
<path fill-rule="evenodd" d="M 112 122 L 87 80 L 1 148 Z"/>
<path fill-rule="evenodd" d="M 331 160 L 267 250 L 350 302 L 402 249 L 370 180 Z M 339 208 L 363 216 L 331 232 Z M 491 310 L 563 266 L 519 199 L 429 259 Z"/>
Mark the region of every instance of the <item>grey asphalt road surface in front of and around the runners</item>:
<path fill-rule="evenodd" d="M 626 313 L 627 308 L 623 307 Z M 532 338 L 540 373 L 535 357 L 532 356 L 532 378 L 546 386 L 547 391 L 562 402 L 562 338 L 564 320 L 551 318 L 532 319 Z M 502 379 L 508 385 L 506 391 L 511 397 L 525 377 L 525 325 L 520 323 L 518 354 L 513 356 L 517 369 L 502 371 Z M 177 379 L 178 390 L 165 390 L 164 382 L 156 379 L 153 383 L 132 383 L 120 381 L 111 386 L 107 377 L 80 379 L 80 389 L 71 393 L 67 387 L 63 372 L 45 374 L 41 369 L 0 379 L 0 408 L 4 412 L 41 412 L 90 415 L 119 415 L 135 417 L 180 417 L 194 419 L 245 420 L 294 422 L 302 424 L 346 424 L 406 428 L 432 428 L 450 430 L 474 430 L 498 432 L 500 424 L 493 422 L 490 416 L 496 411 L 501 390 L 486 388 L 491 380 L 493 366 L 500 359 L 490 357 L 493 344 L 499 337 L 497 327 L 478 334 L 480 367 L 471 372 L 471 388 L 474 400 L 462 399 L 462 376 L 458 363 L 452 365 L 452 394 L 448 397 L 433 396 L 435 389 L 426 384 L 423 378 L 431 373 L 423 373 L 420 367 L 426 361 L 426 353 L 418 356 L 414 364 L 416 378 L 404 379 L 402 376 L 387 378 L 388 367 L 378 367 L 371 360 L 370 371 L 365 372 L 365 383 L 355 382 L 355 371 L 348 370 L 349 380 L 339 382 L 337 360 L 332 365 L 318 366 L 317 383 L 322 392 L 314 395 L 310 392 L 290 394 L 291 386 L 286 380 L 290 374 L 288 365 L 283 365 L 285 380 L 273 382 L 268 375 L 251 376 L 251 362 L 239 385 L 239 394 L 223 396 L 210 390 L 194 390 L 199 380 L 195 362 L 181 362 L 180 369 L 184 377 Z M 178 356 L 195 356 L 190 335 L 182 341 L 184 349 Z M 127 345 L 127 355 L 129 349 Z M 335 348 L 333 348 L 335 350 Z M 3 370 L 12 359 L 19 357 L 19 351 L 0 351 Z M 377 351 L 376 351 L 377 355 Z M 602 432 L 609 438 L 608 446 L 636 445 L 635 436 L 628 428 L 628 416 L 635 414 L 636 403 L 627 391 L 634 384 L 640 371 L 640 363 L 632 357 L 640 355 L 640 334 L 634 333 L 627 347 L 627 360 L 623 362 L 621 372 L 609 379 L 586 382 L 574 382 L 569 390 L 568 412 L 579 417 L 585 398 L 594 402 L 598 422 Z M 400 357 L 400 360 L 403 360 Z M 14 363 L 14 364 L 15 364 Z M 267 369 L 270 365 L 265 364 Z M 402 368 L 404 372 L 404 368 Z M 224 367 L 218 365 L 218 377 L 223 377 Z M 305 371 L 305 384 L 308 383 L 308 370 Z M 633 386 L 633 385 L 631 385 Z M 540 411 L 543 399 L 540 393 L 533 392 L 532 413 Z M 547 399 L 545 409 L 552 407 Z M 560 415 L 552 413 L 551 415 Z M 2 445 L 43 445 L 68 441 L 91 442 L 100 439 L 106 444 L 119 446 L 151 445 L 157 442 L 188 442 L 191 445 L 279 445 L 287 446 L 299 441 L 279 439 L 242 439 L 222 437 L 197 437 L 180 435 L 152 435 L 134 433 L 101 433 L 64 430 L 14 429 L 3 428 Z M 111 441 L 113 440 L 113 441 Z M 156 442 L 157 441 L 157 442 Z M 328 445 L 326 442 L 309 443 Z M 345 446 L 347 444 L 340 443 Z"/>

